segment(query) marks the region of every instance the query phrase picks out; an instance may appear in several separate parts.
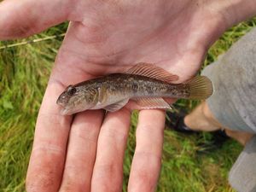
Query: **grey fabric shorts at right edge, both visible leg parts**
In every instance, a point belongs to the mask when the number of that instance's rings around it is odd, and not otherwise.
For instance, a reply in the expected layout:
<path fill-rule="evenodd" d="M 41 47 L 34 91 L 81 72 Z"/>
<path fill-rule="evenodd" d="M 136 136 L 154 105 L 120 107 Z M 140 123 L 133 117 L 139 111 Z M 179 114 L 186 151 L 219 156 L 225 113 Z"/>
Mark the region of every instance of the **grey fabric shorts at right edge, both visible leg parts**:
<path fill-rule="evenodd" d="M 207 104 L 218 122 L 235 131 L 256 133 L 256 29 L 203 74 L 212 79 L 214 92 Z M 236 160 L 229 180 L 238 192 L 256 192 L 256 136 Z"/>

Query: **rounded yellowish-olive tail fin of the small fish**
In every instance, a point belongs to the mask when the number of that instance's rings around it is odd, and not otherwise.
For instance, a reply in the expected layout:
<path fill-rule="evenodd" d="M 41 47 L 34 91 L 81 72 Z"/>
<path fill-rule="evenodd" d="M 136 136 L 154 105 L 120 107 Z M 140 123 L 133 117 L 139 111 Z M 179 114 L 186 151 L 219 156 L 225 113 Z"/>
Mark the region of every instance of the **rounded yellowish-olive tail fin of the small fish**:
<path fill-rule="evenodd" d="M 188 82 L 190 88 L 189 99 L 207 99 L 212 95 L 212 81 L 206 76 L 197 76 Z"/>

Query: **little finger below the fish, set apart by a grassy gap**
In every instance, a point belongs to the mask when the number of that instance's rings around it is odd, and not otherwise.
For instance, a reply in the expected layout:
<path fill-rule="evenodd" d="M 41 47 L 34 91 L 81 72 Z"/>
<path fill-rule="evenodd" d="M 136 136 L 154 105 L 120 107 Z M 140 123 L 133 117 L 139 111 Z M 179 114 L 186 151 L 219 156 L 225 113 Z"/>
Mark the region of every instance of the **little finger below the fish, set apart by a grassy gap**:
<path fill-rule="evenodd" d="M 164 128 L 164 111 L 143 110 L 139 113 L 137 146 L 131 164 L 128 191 L 154 191 L 160 174 Z"/>

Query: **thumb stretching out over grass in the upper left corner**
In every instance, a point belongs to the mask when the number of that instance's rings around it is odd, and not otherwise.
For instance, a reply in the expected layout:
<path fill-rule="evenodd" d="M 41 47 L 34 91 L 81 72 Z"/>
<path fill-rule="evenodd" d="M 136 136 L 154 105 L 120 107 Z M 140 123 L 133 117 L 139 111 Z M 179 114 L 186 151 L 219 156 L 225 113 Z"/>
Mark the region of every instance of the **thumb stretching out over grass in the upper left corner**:
<path fill-rule="evenodd" d="M 0 3 L 0 40 L 25 38 L 67 20 L 67 0 L 8 0 Z"/>

